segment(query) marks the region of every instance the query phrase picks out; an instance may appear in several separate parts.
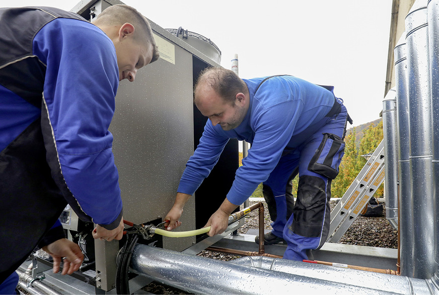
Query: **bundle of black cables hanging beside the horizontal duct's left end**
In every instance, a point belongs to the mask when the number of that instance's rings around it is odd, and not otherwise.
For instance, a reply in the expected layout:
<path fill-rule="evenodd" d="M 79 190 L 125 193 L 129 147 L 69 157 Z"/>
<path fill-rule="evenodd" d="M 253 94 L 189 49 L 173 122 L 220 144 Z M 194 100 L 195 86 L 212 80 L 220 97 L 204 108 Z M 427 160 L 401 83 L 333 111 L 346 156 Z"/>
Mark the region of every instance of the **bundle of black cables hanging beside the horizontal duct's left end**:
<path fill-rule="evenodd" d="M 137 243 L 137 234 L 127 234 L 126 242 L 122 247 L 119 256 L 119 264 L 116 269 L 116 293 L 117 294 L 130 294 L 129 292 L 129 280 L 128 280 L 128 268 L 131 260 L 131 255 L 134 250 L 134 246 Z"/>

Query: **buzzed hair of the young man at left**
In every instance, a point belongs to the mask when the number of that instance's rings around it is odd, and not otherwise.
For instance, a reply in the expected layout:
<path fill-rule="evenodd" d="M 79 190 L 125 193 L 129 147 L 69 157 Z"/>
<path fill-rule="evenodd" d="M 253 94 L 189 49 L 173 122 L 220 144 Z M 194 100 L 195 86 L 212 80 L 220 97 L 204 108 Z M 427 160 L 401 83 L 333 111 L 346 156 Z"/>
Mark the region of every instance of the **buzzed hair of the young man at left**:
<path fill-rule="evenodd" d="M 151 63 L 159 59 L 159 50 L 154 40 L 150 22 L 135 8 L 121 4 L 112 5 L 101 12 L 93 23 L 105 26 L 121 26 L 130 23 L 135 28 L 134 39 L 137 42 L 148 42 L 152 45 L 153 59 Z"/>

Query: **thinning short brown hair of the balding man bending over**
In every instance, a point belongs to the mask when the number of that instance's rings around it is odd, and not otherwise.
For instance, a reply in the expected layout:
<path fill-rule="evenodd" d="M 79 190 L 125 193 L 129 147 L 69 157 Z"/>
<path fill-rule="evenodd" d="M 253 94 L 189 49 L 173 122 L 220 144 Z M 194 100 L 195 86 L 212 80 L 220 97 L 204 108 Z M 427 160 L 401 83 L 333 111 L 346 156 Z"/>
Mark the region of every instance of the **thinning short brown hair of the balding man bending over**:
<path fill-rule="evenodd" d="M 195 83 L 194 94 L 200 83 L 206 83 L 212 87 L 219 96 L 228 102 L 235 102 L 236 95 L 246 91 L 244 81 L 235 72 L 225 68 L 208 67 L 204 69 Z"/>

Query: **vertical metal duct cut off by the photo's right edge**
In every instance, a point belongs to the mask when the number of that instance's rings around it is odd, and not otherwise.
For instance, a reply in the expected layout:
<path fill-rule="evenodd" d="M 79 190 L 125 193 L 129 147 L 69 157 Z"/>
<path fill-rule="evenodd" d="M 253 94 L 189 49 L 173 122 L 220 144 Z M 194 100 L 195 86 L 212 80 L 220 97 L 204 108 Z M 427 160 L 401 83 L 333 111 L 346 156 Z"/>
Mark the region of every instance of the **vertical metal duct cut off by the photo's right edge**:
<path fill-rule="evenodd" d="M 433 204 L 436 279 L 439 278 L 439 1 L 428 1 L 428 44 L 431 81 L 431 114 L 433 142 Z"/>

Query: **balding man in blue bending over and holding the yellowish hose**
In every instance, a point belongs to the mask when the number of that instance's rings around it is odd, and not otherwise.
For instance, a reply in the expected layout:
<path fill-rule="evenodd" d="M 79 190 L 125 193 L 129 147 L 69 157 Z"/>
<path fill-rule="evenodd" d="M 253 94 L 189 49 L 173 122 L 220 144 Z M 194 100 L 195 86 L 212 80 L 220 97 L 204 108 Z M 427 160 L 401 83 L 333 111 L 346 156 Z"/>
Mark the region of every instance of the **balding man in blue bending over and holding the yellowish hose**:
<path fill-rule="evenodd" d="M 166 216 L 167 229 L 181 224 L 184 204 L 229 139 L 237 138 L 251 148 L 226 199 L 206 224 L 211 226 L 208 235 L 222 233 L 233 210 L 263 183 L 275 199 L 277 216 L 271 234 L 287 242 L 283 258 L 308 259 L 307 251 L 322 247 L 328 235 L 331 181 L 338 174 L 350 121 L 333 87 L 288 75 L 246 80 L 230 70 L 208 68 L 194 89 L 194 102 L 208 120 Z M 297 167 L 297 201 L 287 218 L 285 189 Z"/>

